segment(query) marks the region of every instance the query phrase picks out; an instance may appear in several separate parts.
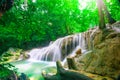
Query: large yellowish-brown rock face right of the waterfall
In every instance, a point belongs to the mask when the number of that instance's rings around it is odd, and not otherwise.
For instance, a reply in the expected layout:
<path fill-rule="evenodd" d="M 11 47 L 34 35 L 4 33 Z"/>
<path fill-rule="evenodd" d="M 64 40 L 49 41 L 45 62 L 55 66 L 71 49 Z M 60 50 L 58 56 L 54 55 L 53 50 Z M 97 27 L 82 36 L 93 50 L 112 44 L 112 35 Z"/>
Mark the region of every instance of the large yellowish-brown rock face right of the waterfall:
<path fill-rule="evenodd" d="M 120 23 L 112 26 L 113 29 L 96 28 L 85 33 L 91 51 L 77 58 L 80 70 L 112 78 L 120 75 Z"/>

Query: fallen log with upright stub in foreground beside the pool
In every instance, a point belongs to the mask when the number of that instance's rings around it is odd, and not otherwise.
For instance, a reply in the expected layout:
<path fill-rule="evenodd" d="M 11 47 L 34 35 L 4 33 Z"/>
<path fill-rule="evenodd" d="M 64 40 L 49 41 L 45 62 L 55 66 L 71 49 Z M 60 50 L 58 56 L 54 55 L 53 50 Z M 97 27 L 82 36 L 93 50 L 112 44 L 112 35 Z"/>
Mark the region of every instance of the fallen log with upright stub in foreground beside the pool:
<path fill-rule="evenodd" d="M 56 75 L 42 74 L 45 80 L 93 80 L 79 72 L 65 70 L 60 61 L 56 62 L 57 73 Z"/>

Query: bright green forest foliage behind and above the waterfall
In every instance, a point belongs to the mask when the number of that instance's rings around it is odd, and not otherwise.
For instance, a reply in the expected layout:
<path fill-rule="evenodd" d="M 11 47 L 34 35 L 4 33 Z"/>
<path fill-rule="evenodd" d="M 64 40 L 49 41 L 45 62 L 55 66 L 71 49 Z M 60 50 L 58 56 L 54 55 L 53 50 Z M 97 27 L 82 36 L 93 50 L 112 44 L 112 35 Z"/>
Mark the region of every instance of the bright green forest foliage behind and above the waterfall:
<path fill-rule="evenodd" d="M 86 2 L 83 3 L 83 2 Z M 119 0 L 104 0 L 115 20 L 120 20 Z M 0 54 L 10 47 L 31 49 L 59 37 L 98 25 L 96 0 L 15 0 L 0 18 Z"/>

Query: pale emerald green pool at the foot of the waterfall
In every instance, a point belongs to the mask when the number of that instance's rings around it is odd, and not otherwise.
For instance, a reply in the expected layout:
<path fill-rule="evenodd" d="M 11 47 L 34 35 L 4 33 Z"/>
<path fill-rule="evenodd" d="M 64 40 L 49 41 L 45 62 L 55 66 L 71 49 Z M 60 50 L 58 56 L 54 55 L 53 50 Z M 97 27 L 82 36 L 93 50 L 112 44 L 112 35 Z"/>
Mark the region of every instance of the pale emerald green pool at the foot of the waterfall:
<path fill-rule="evenodd" d="M 44 80 L 42 71 L 56 73 L 55 62 L 21 60 L 11 64 L 18 68 L 18 74 L 25 73 L 30 80 Z"/>

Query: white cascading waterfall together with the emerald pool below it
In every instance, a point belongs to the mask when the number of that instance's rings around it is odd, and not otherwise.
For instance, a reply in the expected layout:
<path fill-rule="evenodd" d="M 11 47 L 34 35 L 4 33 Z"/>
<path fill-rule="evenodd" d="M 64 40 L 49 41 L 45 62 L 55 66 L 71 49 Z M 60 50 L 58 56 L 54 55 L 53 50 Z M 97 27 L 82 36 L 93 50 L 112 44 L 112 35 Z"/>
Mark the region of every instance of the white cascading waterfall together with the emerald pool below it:
<path fill-rule="evenodd" d="M 59 38 L 43 48 L 32 49 L 28 60 L 12 62 L 18 68 L 18 74 L 25 73 L 30 80 L 44 80 L 41 73 L 56 73 L 56 61 L 65 61 L 66 56 L 75 55 L 76 51 L 86 51 L 84 34 L 75 34 Z M 81 54 L 81 52 L 79 52 Z"/>

